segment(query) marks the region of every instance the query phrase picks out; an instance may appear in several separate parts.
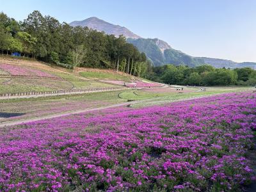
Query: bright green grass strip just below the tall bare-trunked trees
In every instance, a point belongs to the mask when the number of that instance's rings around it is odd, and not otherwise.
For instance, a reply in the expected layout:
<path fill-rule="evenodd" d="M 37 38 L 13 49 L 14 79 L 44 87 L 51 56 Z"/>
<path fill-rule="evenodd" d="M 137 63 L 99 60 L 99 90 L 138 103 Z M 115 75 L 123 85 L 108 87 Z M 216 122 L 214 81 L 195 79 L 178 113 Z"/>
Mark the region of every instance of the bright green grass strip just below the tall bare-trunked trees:
<path fill-rule="evenodd" d="M 122 76 L 120 74 L 111 74 L 103 72 L 80 72 L 79 75 L 91 78 L 91 79 L 110 79 L 110 80 L 122 80 L 122 81 L 131 81 L 131 77 Z"/>

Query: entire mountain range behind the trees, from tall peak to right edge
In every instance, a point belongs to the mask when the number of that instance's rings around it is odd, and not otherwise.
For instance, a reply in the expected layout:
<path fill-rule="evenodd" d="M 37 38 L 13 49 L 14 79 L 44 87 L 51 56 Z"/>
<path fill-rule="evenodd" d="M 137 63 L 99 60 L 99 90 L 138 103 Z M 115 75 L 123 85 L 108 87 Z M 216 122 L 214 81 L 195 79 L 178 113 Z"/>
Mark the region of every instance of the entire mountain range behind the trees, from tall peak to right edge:
<path fill-rule="evenodd" d="M 173 49 L 163 40 L 159 40 L 158 38 L 141 38 L 125 27 L 111 24 L 98 19 L 97 17 L 74 21 L 70 23 L 70 26 L 87 26 L 88 28 L 96 29 L 97 31 L 104 31 L 107 34 L 113 34 L 115 36 L 124 35 L 127 37 L 127 42 L 136 46 L 139 51 L 145 52 L 148 59 L 152 61 L 154 66 L 171 63 L 173 65 L 188 65 L 189 67 L 196 67 L 198 65 L 208 64 L 216 68 L 251 67 L 256 69 L 256 63 L 253 62 L 237 63 L 230 60 L 189 56 L 182 51 Z"/>

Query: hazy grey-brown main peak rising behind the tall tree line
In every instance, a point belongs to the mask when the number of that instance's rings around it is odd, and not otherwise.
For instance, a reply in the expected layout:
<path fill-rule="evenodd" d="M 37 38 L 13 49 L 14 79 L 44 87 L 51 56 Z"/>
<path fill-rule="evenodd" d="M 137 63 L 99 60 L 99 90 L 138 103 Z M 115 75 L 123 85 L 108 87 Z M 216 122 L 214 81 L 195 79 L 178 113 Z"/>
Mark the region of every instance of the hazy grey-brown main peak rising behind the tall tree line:
<path fill-rule="evenodd" d="M 90 17 L 88 19 L 81 20 L 81 21 L 73 21 L 70 23 L 70 26 L 88 27 L 88 28 L 96 29 L 97 31 L 104 31 L 109 35 L 111 34 L 115 36 L 124 35 L 129 38 L 141 38 L 140 36 L 132 33 L 129 29 L 125 27 L 111 24 L 97 17 Z"/>

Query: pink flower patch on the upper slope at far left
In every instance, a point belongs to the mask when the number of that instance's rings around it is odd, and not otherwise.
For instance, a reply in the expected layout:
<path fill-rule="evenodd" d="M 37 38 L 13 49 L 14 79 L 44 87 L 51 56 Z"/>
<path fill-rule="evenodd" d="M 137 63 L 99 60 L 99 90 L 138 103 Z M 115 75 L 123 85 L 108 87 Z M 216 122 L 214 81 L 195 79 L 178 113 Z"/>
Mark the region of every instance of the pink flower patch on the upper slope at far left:
<path fill-rule="evenodd" d="M 36 77 L 56 77 L 52 74 L 19 65 L 0 64 L 0 69 L 10 73 L 12 76 L 36 76 Z"/>

